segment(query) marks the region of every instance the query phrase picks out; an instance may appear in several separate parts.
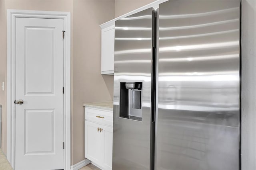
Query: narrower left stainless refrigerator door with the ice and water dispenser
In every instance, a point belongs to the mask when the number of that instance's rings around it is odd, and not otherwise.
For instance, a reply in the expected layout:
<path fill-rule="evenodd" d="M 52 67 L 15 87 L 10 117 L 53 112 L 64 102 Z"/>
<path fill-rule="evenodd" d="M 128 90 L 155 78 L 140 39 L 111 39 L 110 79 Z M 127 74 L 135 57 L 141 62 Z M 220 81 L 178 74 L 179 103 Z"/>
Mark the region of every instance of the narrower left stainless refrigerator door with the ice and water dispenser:
<path fill-rule="evenodd" d="M 113 170 L 150 169 L 152 18 L 150 8 L 115 23 Z"/>

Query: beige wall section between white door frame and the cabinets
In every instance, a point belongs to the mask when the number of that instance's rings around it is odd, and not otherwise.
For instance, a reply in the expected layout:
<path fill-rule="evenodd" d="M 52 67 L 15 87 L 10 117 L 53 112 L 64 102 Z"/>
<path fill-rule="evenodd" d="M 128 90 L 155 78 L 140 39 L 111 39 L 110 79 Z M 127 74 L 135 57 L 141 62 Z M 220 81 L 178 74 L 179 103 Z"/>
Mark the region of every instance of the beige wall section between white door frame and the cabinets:
<path fill-rule="evenodd" d="M 114 0 L 74 0 L 73 162 L 84 159 L 83 103 L 113 100 L 113 76 L 101 75 L 101 29 L 114 18 Z"/>

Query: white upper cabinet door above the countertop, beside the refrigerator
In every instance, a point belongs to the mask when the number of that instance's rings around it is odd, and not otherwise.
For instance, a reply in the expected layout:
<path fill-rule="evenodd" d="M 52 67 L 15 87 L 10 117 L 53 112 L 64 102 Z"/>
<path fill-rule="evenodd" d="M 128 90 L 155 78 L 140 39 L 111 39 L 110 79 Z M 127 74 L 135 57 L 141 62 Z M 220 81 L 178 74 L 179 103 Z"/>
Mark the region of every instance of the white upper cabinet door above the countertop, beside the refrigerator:
<path fill-rule="evenodd" d="M 114 74 L 115 26 L 101 31 L 101 74 Z"/>

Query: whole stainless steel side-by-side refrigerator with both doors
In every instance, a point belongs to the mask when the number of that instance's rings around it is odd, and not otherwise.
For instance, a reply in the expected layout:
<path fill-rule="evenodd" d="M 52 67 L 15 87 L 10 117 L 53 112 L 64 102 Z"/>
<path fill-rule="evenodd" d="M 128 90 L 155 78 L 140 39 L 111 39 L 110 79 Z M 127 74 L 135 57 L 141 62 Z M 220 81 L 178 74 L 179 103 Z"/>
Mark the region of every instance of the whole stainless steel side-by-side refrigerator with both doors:
<path fill-rule="evenodd" d="M 240 0 L 115 23 L 113 170 L 240 169 Z"/>

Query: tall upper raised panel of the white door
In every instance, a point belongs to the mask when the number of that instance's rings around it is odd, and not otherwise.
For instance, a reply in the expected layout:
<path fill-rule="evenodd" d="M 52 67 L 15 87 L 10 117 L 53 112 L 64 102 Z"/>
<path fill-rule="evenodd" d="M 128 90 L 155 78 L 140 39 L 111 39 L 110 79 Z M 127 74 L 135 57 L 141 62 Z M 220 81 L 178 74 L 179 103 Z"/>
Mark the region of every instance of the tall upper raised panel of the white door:
<path fill-rule="evenodd" d="M 54 93 L 53 52 L 54 27 L 25 27 L 25 95 Z"/>

